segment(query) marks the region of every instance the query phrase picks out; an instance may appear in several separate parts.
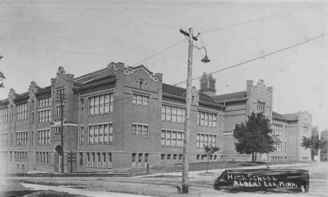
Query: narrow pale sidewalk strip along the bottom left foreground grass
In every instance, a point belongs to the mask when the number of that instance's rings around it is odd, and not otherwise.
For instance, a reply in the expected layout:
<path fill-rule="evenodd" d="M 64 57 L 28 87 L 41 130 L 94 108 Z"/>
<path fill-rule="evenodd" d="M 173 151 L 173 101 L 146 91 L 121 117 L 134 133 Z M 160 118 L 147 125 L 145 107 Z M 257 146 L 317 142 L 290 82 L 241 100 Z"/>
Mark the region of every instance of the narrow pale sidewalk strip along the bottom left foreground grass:
<path fill-rule="evenodd" d="M 107 196 L 115 196 L 115 197 L 139 197 L 143 195 L 131 194 L 131 193 L 116 193 L 116 192 L 107 192 L 107 191 L 87 191 L 83 189 L 74 189 L 64 186 L 46 186 L 39 184 L 25 184 L 22 183 L 22 186 L 25 186 L 27 189 L 39 191 L 39 190 L 53 190 L 53 191 L 61 191 L 67 193 L 73 193 L 83 196 L 93 196 L 93 197 L 107 197 Z M 151 196 L 146 196 L 151 197 Z"/>

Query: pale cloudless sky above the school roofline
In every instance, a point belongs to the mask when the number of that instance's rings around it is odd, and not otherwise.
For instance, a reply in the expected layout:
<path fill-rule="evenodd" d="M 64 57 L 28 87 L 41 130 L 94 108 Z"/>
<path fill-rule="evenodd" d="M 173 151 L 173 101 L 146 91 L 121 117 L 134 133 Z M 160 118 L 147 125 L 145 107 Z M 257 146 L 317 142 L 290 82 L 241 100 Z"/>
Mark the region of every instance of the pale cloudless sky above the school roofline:
<path fill-rule="evenodd" d="M 81 76 L 109 62 L 135 66 L 194 34 L 266 18 L 308 6 L 303 11 L 200 34 L 211 62 L 193 50 L 193 77 L 280 50 L 328 32 L 328 6 L 319 1 L 0 1 L 0 69 L 6 76 L 0 99 L 9 90 L 27 92 L 31 81 L 50 86 L 58 67 Z M 95 3 L 97 2 L 97 3 Z M 264 79 L 273 87 L 273 111 L 308 111 L 313 125 L 328 128 L 328 36 L 214 74 L 217 94 L 246 89 Z M 163 73 L 169 84 L 186 80 L 188 43 L 142 62 Z M 186 84 L 182 84 L 185 87 Z M 199 80 L 193 81 L 199 88 Z"/>

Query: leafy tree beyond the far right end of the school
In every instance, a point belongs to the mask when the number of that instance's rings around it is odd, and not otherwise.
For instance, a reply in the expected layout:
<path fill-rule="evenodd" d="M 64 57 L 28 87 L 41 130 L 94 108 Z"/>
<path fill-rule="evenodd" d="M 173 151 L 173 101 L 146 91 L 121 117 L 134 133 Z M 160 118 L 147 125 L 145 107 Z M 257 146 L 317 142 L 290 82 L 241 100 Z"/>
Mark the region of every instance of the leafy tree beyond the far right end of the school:
<path fill-rule="evenodd" d="M 327 140 L 324 140 L 323 137 L 319 140 L 317 126 L 312 129 L 311 137 L 302 137 L 301 147 L 310 149 L 312 161 L 314 160 L 314 156 L 317 155 L 317 150 L 323 149 L 325 146 L 327 146 Z"/>

